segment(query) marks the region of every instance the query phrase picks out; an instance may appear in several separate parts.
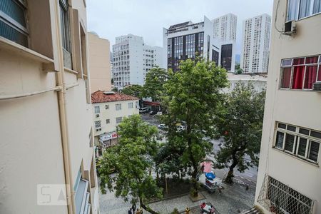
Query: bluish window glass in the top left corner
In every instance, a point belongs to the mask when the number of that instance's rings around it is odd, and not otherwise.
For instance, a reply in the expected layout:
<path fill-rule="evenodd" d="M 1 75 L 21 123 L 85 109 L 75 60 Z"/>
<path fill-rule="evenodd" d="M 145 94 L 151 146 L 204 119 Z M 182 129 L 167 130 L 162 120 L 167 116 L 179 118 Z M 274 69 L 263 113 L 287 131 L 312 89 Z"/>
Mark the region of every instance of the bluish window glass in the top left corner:
<path fill-rule="evenodd" d="M 26 4 L 24 0 L 0 1 L 0 36 L 28 46 L 26 29 Z"/>

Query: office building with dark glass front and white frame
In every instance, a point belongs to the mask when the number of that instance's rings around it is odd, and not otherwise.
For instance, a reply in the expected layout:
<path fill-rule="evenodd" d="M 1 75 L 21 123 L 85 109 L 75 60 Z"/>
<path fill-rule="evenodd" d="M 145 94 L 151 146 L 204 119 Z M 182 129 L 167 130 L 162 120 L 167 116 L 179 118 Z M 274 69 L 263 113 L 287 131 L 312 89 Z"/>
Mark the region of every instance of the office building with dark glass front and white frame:
<path fill-rule="evenodd" d="M 213 22 L 204 16 L 204 21 L 186 21 L 163 29 L 163 47 L 167 56 L 167 68 L 178 71 L 179 62 L 197 56 L 219 64 L 220 47 L 213 39 Z"/>

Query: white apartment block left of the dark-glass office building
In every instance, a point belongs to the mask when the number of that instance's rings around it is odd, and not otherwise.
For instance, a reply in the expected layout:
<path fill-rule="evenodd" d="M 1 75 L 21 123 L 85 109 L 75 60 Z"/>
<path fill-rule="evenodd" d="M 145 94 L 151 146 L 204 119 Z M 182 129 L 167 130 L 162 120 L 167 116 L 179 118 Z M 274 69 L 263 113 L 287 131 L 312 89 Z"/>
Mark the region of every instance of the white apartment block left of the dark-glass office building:
<path fill-rule="evenodd" d="M 113 45 L 113 84 L 117 88 L 145 83 L 151 68 L 164 68 L 163 48 L 148 46 L 143 37 L 128 34 L 116 37 Z"/>

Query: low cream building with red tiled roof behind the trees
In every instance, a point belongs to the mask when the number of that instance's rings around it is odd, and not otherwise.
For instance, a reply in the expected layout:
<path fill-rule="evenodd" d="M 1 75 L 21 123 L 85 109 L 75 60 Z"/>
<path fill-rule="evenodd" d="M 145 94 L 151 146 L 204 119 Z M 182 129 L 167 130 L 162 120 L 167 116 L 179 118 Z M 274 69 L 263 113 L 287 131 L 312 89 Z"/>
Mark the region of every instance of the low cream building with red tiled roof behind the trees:
<path fill-rule="evenodd" d="M 123 118 L 139 113 L 139 99 L 123 93 L 96 91 L 93 103 L 93 136 L 95 145 L 107 148 L 118 143 L 117 126 Z"/>

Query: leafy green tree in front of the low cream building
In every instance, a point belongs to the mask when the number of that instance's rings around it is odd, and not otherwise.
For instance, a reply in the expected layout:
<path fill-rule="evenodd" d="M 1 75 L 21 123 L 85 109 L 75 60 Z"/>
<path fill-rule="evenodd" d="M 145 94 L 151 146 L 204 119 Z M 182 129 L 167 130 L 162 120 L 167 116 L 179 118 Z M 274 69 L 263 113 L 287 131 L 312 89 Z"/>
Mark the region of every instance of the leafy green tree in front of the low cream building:
<path fill-rule="evenodd" d="M 101 192 L 115 190 L 116 197 L 125 201 L 131 198 L 132 203 L 139 201 L 141 207 L 150 213 L 157 214 L 148 205 L 146 199 L 162 198 L 162 189 L 156 185 L 151 176 L 153 157 L 157 153 L 157 128 L 144 123 L 139 115 L 124 118 L 119 124 L 121 136 L 119 143 L 103 153 L 99 175 Z M 111 176 L 111 169 L 116 175 Z"/>

